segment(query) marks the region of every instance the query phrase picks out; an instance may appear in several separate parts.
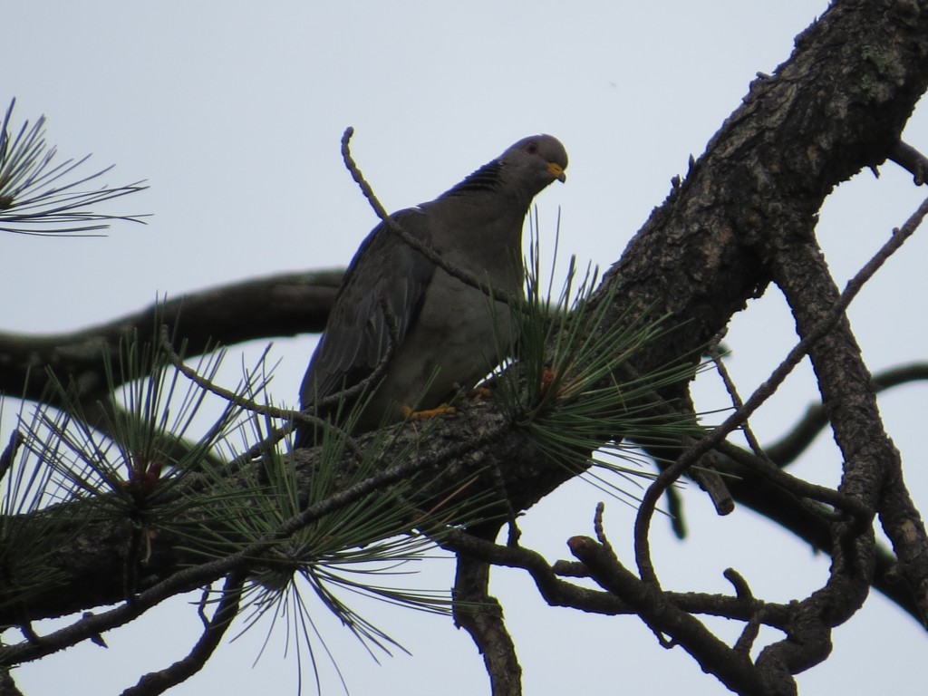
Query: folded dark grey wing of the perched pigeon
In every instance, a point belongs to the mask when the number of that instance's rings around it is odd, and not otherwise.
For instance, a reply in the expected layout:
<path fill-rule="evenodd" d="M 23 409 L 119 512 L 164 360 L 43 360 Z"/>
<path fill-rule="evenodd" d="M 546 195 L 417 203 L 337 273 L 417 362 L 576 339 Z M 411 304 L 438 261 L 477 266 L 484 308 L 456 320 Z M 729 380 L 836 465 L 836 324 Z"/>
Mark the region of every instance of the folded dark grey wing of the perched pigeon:
<path fill-rule="evenodd" d="M 430 243 L 429 216 L 412 208 L 392 215 L 413 237 Z M 376 226 L 354 255 L 310 361 L 300 401 L 337 393 L 367 378 L 390 346 L 387 314 L 402 343 L 413 325 L 435 266 L 413 251 L 384 223 Z M 385 309 L 384 309 L 385 308 Z"/>

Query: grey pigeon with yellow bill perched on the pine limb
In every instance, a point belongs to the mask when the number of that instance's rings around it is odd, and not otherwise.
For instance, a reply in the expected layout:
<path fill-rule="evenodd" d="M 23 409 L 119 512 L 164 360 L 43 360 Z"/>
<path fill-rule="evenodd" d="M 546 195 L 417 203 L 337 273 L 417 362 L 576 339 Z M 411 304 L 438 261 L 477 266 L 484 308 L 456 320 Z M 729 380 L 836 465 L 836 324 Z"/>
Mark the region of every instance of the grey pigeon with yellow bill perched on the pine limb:
<path fill-rule="evenodd" d="M 566 167 L 557 138 L 532 135 L 437 199 L 391 217 L 491 289 L 522 293 L 525 214 L 535 194 L 565 180 Z M 360 397 L 369 402 L 353 432 L 400 420 L 409 408 L 440 406 L 499 364 L 512 330 L 506 304 L 492 307 L 483 291 L 448 275 L 380 223 L 342 280 L 303 378 L 301 408 L 365 380 L 387 358 L 379 383 L 370 385 L 376 391 Z M 354 406 L 346 402 L 342 418 Z M 317 411 L 330 417 L 336 407 Z M 312 426 L 297 427 L 295 446 L 312 446 L 314 439 Z"/>

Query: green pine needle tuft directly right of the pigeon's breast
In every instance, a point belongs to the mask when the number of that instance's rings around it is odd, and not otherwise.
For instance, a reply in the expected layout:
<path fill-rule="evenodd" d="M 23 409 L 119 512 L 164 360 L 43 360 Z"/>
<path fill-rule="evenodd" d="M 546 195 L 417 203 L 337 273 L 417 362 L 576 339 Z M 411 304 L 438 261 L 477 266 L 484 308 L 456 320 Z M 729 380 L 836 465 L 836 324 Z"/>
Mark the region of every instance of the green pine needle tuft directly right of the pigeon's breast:
<path fill-rule="evenodd" d="M 692 379 L 699 367 L 694 367 L 690 356 L 683 356 L 675 364 L 620 383 L 615 377 L 620 368 L 672 329 L 664 317 L 639 308 L 610 323 L 611 298 L 589 302 L 597 272 L 587 268 L 581 274 L 574 257 L 561 289 L 555 292 L 553 281 L 543 288 L 536 236 L 525 265 L 527 300 L 513 311 L 521 340 L 513 363 L 496 379 L 501 407 L 550 458 L 583 468 L 590 461 L 586 453 L 599 451 L 603 456 L 591 460 L 599 468 L 618 473 L 625 481 L 650 478 L 652 474 L 640 468 L 644 458 L 637 445 L 630 442 L 679 443 L 683 437 L 700 434 L 702 428 L 686 416 L 654 414 L 647 399 L 664 387 Z M 638 499 L 601 476 L 595 483 Z"/>

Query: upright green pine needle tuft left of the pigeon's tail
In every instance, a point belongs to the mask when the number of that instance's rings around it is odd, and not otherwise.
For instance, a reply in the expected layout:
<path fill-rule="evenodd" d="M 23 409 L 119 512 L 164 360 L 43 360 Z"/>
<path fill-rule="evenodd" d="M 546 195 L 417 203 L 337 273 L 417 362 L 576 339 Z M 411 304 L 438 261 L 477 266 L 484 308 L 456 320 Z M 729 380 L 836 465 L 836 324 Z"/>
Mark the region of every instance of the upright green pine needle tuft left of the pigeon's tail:
<path fill-rule="evenodd" d="M 213 466 L 219 445 L 240 427 L 241 409 L 225 403 L 206 432 L 187 442 L 188 435 L 203 428 L 200 412 L 210 394 L 174 367 L 160 343 L 136 336 L 121 341 L 113 354 L 104 353 L 112 396 L 95 406 L 103 414 L 100 427 L 92 427 L 84 416 L 77 386 L 64 385 L 49 373 L 62 406 L 37 407 L 27 447 L 50 471 L 55 502 L 80 501 L 83 507 L 73 509 L 85 515 L 170 528 L 194 505 L 181 495 L 180 483 Z M 223 357 L 222 351 L 200 357 L 196 369 L 213 379 Z M 252 390 L 261 384 L 255 375 L 248 381 Z"/>

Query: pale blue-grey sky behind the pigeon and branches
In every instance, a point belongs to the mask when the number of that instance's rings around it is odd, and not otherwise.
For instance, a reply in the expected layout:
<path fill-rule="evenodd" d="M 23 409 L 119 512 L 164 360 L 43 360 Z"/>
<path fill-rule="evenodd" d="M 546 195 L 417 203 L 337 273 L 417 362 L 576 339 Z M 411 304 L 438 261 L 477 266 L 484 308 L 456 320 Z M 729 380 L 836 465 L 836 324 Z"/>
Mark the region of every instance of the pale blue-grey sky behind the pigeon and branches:
<path fill-rule="evenodd" d="M 431 200 L 523 135 L 557 135 L 570 153 L 568 182 L 537 199 L 543 238 L 553 235 L 560 209 L 561 255 L 607 266 L 664 200 L 671 177 L 685 174 L 690 154 L 702 153 L 755 73 L 788 58 L 793 37 L 826 6 L 3 3 L 0 102 L 17 97 L 17 122 L 45 113 L 48 140 L 63 158 L 93 152 L 91 166 L 115 162 L 111 184 L 148 179 L 150 190 L 108 210 L 154 216 L 148 226 L 114 226 L 106 238 L 0 235 L 0 328 L 78 329 L 140 309 L 158 293 L 176 297 L 246 277 L 347 264 L 376 222 L 342 166 L 339 138 L 347 125 L 356 129 L 355 158 L 392 210 Z M 906 137 L 928 149 L 923 109 Z M 819 238 L 842 283 L 928 191 L 893 164 L 881 174 L 859 174 L 823 210 Z M 874 370 L 925 358 L 918 299 L 926 290 L 926 234 L 911 239 L 852 307 Z M 749 309 L 728 336 L 728 365 L 742 395 L 795 342 L 776 288 Z M 295 401 L 314 342 L 275 342 L 276 400 Z M 246 362 L 262 348 L 247 346 Z M 238 363 L 238 354 L 230 355 L 223 373 L 230 385 Z M 702 410 L 727 406 L 717 379 L 701 382 Z M 928 509 L 924 389 L 887 393 L 881 408 L 907 463 L 909 488 Z M 754 420 L 762 441 L 786 432 L 816 395 L 806 363 Z M 11 425 L 2 424 L 0 441 Z M 794 471 L 833 483 L 839 463 L 825 434 Z M 717 518 L 702 495 L 685 496 L 685 543 L 655 522 L 664 586 L 730 592 L 722 578 L 728 566 L 767 599 L 805 597 L 821 585 L 827 558 L 748 510 Z M 552 561 L 569 558 L 564 541 L 592 534 L 602 497 L 588 483 L 563 486 L 524 519 L 523 543 Z M 630 561 L 634 510 L 606 502 L 607 532 Z M 451 561 L 419 565 L 419 576 L 406 582 L 450 586 Z M 660 648 L 636 617 L 549 608 L 515 571 L 497 569 L 492 589 L 518 645 L 526 694 L 728 693 L 681 649 Z M 380 605 L 367 613 L 412 655 L 380 655 L 377 664 L 323 608 L 314 612 L 353 694 L 488 692 L 477 651 L 450 619 Z M 728 638 L 740 629 L 719 626 Z M 200 675 L 171 693 L 295 693 L 296 661 L 283 656 L 282 631 L 251 666 L 265 630 L 221 647 Z M 198 635 L 195 610 L 169 602 L 107 634 L 107 651 L 87 645 L 22 667 L 19 686 L 30 696 L 119 693 L 186 655 Z M 799 677 L 803 693 L 906 693 L 923 685 L 924 632 L 880 595 L 833 639 L 831 658 Z M 341 693 L 324 656 L 320 669 L 323 693 Z M 311 675 L 309 664 L 304 674 Z M 311 678 L 303 693 L 315 693 Z"/>

